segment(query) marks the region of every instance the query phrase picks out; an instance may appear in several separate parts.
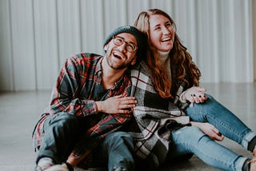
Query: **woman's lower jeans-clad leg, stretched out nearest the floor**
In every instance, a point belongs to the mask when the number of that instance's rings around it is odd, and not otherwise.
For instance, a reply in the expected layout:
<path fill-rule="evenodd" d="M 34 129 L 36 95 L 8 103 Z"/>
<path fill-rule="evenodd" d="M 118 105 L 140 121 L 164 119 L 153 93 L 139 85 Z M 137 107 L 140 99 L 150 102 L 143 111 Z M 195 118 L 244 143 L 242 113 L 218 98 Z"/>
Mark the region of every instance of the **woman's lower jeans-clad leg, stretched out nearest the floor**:
<path fill-rule="evenodd" d="M 186 153 L 194 153 L 207 165 L 223 170 L 242 170 L 248 160 L 210 139 L 200 129 L 186 126 L 172 133 L 173 143 L 166 160 L 174 160 Z"/>

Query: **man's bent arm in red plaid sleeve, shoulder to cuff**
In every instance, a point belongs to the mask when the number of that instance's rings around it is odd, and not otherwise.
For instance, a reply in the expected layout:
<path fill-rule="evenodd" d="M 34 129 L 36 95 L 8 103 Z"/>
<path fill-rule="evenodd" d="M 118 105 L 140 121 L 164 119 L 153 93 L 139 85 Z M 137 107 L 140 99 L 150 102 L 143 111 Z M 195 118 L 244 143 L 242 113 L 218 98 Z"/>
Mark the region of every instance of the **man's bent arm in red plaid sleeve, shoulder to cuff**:
<path fill-rule="evenodd" d="M 93 79 L 90 78 L 90 70 L 94 70 L 92 67 L 89 63 L 83 63 L 82 58 L 72 57 L 66 60 L 52 92 L 51 113 L 67 112 L 87 116 L 97 112 L 95 101 L 88 97 L 90 92 L 81 92 L 83 85 L 86 85 L 84 89 L 91 89 L 93 86 L 87 82 Z"/>

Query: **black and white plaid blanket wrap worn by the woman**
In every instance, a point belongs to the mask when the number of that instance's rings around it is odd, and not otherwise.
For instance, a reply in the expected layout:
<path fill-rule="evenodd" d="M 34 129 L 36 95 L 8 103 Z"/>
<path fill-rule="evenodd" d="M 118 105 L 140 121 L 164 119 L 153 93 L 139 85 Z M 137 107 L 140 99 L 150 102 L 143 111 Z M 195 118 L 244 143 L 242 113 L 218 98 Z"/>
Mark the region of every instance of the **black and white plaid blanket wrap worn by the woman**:
<path fill-rule="evenodd" d="M 131 128 L 135 141 L 135 152 L 138 157 L 154 161 L 158 166 L 166 159 L 170 147 L 171 133 L 165 129 L 170 118 L 184 116 L 182 111 L 187 104 L 178 101 L 183 86 L 178 88 L 174 103 L 163 99 L 154 89 L 150 78 L 150 69 L 144 62 L 131 70 L 131 95 L 136 97 L 138 104 L 134 108 L 136 126 Z"/>

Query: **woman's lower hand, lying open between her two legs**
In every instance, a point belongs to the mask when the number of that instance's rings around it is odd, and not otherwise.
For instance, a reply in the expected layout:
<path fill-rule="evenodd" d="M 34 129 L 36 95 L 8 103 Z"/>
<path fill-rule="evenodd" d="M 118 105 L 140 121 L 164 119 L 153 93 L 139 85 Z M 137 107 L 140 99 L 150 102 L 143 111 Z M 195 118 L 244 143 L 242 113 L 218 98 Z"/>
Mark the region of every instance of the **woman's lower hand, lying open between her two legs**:
<path fill-rule="evenodd" d="M 224 136 L 222 135 L 222 133 L 220 133 L 218 129 L 215 128 L 214 125 L 211 125 L 208 122 L 202 123 L 202 122 L 190 121 L 190 123 L 191 125 L 194 125 L 199 129 L 201 129 L 203 133 L 208 135 L 208 137 L 210 137 L 213 140 L 222 141 L 224 139 Z"/>

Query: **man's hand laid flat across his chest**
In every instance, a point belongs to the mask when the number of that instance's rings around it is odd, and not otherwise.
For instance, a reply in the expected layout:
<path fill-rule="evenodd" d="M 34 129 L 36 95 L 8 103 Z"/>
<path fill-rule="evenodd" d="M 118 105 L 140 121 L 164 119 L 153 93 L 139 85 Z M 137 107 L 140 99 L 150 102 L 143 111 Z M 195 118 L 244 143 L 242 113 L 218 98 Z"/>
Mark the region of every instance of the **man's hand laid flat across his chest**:
<path fill-rule="evenodd" d="M 137 101 L 135 97 L 122 97 L 122 95 L 109 97 L 105 101 L 96 101 L 98 112 L 103 113 L 130 113 Z"/>

